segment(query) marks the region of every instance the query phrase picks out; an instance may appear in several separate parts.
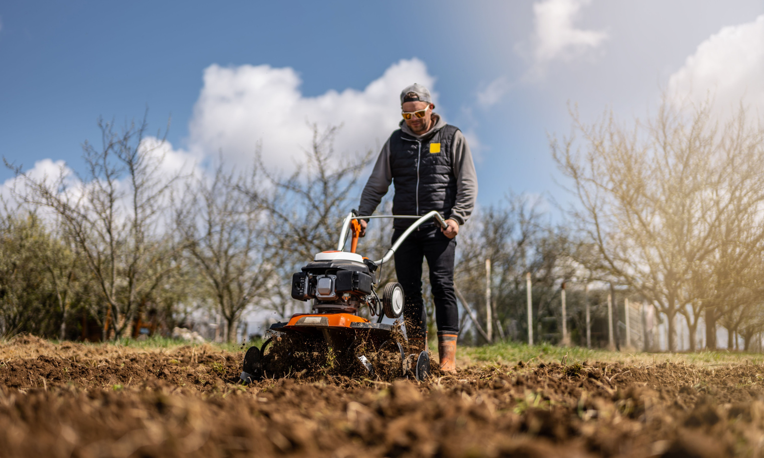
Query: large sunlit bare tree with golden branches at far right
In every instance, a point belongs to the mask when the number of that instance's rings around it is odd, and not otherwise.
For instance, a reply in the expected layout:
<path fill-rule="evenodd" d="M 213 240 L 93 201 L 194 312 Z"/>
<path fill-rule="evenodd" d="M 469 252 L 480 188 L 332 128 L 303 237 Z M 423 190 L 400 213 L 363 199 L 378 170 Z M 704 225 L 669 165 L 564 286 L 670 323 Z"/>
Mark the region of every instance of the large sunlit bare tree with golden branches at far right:
<path fill-rule="evenodd" d="M 743 183 L 747 189 L 736 218 L 764 202 L 764 177 L 741 174 L 761 161 L 760 134 L 741 118 L 720 129 L 710 104 L 686 113 L 665 102 L 655 118 L 633 128 L 618 124 L 613 114 L 584 124 L 573 113 L 585 153 L 575 150 L 575 137 L 562 144 L 552 140 L 555 161 L 578 198 L 569 214 L 596 248 L 594 268 L 666 314 L 670 350 L 676 348 L 676 315 L 687 305 L 708 306 L 693 276 L 713 263 L 727 240 L 724 221 L 739 198 L 736 189 Z M 701 315 L 694 310 L 685 314 L 692 342 Z"/>

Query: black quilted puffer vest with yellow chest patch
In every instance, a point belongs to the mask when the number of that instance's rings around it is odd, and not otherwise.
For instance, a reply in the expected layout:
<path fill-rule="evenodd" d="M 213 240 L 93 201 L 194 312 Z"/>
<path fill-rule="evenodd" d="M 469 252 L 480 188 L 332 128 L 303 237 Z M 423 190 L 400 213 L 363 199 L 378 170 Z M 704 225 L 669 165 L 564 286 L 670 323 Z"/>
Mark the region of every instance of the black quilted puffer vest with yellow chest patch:
<path fill-rule="evenodd" d="M 437 210 L 443 218 L 451 216 L 456 203 L 456 176 L 452 147 L 457 127 L 446 124 L 429 140 L 417 140 L 397 130 L 390 135 L 390 171 L 395 195 L 393 214 L 421 216 Z M 413 219 L 397 218 L 396 229 L 406 229 Z M 425 227 L 432 223 L 422 224 Z"/>

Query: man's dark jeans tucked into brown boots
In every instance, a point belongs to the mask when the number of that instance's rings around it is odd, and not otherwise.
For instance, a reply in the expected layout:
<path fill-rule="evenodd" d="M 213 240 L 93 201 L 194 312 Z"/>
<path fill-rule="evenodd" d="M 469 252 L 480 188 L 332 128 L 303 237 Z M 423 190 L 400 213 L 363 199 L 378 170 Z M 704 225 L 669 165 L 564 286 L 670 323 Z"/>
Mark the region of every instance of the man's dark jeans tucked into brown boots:
<path fill-rule="evenodd" d="M 393 244 L 403 231 L 393 232 Z M 435 323 L 438 334 L 459 333 L 459 311 L 454 294 L 454 253 L 456 239 L 445 237 L 438 227 L 414 231 L 395 252 L 395 273 L 403 286 L 406 304 L 403 318 L 409 337 L 423 337 L 427 314 L 422 301 L 422 258 L 427 259 L 430 285 L 435 299 Z"/>

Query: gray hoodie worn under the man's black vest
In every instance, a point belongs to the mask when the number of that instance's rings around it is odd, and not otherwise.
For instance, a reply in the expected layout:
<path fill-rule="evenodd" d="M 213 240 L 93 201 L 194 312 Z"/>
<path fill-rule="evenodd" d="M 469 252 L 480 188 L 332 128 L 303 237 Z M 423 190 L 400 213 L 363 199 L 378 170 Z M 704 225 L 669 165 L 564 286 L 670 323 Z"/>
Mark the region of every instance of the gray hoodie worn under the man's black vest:
<path fill-rule="evenodd" d="M 432 120 L 435 121 L 435 125 L 422 135 L 414 134 L 406 121 L 400 121 L 400 128 L 404 134 L 417 140 L 426 141 L 446 125 L 443 118 L 438 114 L 433 113 Z M 475 173 L 467 139 L 461 134 L 461 131 L 456 131 L 454 135 L 451 163 L 456 177 L 456 204 L 452 208 L 451 219 L 458 224 L 465 224 L 472 214 L 475 199 L 478 197 L 478 174 Z M 366 182 L 364 192 L 361 193 L 361 206 L 358 211 L 364 215 L 374 213 L 377 205 L 380 205 L 382 198 L 387 194 L 391 182 L 393 182 L 393 173 L 390 172 L 390 139 L 388 138 L 379 157 L 377 157 L 377 163 L 374 164 L 374 169 L 371 171 L 369 181 Z"/>

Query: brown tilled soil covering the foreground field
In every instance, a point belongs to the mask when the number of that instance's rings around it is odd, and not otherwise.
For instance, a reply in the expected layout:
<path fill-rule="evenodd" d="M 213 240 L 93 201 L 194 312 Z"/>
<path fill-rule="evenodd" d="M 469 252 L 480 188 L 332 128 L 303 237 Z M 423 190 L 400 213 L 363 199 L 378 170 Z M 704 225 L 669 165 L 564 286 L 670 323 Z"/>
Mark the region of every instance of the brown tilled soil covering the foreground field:
<path fill-rule="evenodd" d="M 759 456 L 764 367 L 520 362 L 236 385 L 243 353 L 0 344 L 0 456 Z"/>

